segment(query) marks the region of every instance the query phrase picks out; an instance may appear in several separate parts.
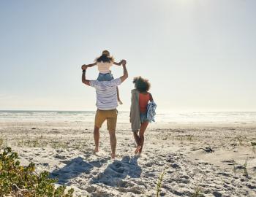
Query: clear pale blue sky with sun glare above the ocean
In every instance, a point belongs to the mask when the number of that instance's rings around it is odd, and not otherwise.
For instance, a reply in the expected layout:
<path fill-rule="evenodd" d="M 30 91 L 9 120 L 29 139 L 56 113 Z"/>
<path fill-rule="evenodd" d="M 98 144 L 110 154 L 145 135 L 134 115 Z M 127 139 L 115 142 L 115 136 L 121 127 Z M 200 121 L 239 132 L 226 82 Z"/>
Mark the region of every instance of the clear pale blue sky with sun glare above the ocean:
<path fill-rule="evenodd" d="M 80 66 L 109 50 L 129 72 L 118 110 L 129 110 L 142 76 L 159 111 L 256 111 L 255 9 L 255 0 L 0 0 L 0 110 L 95 110 Z"/>

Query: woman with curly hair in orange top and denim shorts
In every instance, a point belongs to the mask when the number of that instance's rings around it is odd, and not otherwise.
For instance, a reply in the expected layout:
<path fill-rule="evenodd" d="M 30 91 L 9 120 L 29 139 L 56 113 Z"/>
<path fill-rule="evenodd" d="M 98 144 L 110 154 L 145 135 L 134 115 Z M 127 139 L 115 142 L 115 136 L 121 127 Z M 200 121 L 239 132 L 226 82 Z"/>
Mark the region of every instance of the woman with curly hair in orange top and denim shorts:
<path fill-rule="evenodd" d="M 135 77 L 133 83 L 135 84 L 135 89 L 132 90 L 130 123 L 137 144 L 135 154 L 140 154 L 144 144 L 144 133 L 148 126 L 148 102 L 153 102 L 153 97 L 151 96 L 151 93 L 148 92 L 150 88 L 148 80 L 143 79 L 142 77 Z"/>

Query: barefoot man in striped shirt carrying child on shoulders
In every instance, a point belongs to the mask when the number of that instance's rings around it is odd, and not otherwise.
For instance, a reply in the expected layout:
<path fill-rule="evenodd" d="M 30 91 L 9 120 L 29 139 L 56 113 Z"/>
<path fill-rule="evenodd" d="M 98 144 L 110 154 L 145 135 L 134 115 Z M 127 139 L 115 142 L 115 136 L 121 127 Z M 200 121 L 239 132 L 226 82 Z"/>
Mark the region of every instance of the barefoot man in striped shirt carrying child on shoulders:
<path fill-rule="evenodd" d="M 116 157 L 116 120 L 117 120 L 117 91 L 116 87 L 121 85 L 128 78 L 128 72 L 126 67 L 126 61 L 122 61 L 124 74 L 118 79 L 111 81 L 97 81 L 97 80 L 86 80 L 86 69 L 89 66 L 83 65 L 82 82 L 86 85 L 94 87 L 97 94 L 97 112 L 94 121 L 94 152 L 99 152 L 99 128 L 102 123 L 107 120 L 108 132 L 110 134 L 110 145 L 111 145 L 111 158 Z"/>

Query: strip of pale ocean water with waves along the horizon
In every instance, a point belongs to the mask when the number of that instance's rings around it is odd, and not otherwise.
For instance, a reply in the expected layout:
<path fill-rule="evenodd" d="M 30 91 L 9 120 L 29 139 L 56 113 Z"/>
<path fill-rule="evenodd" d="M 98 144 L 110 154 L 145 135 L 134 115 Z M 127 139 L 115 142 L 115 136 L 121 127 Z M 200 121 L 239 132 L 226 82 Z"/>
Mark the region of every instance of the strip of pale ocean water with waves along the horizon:
<path fill-rule="evenodd" d="M 0 111 L 0 122 L 94 122 L 95 111 Z M 256 123 L 256 112 L 157 112 L 157 123 Z M 129 123 L 129 112 L 118 112 Z"/>

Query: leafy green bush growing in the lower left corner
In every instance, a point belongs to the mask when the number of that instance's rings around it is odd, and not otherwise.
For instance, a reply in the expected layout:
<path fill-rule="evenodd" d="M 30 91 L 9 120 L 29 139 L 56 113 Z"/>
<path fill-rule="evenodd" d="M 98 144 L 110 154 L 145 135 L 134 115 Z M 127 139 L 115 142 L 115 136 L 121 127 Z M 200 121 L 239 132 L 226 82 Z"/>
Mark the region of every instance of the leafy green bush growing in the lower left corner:
<path fill-rule="evenodd" d="M 18 153 L 5 147 L 0 153 L 0 196 L 72 197 L 74 189 L 56 187 L 57 179 L 50 179 L 48 171 L 37 174 L 35 164 L 20 166 Z"/>

